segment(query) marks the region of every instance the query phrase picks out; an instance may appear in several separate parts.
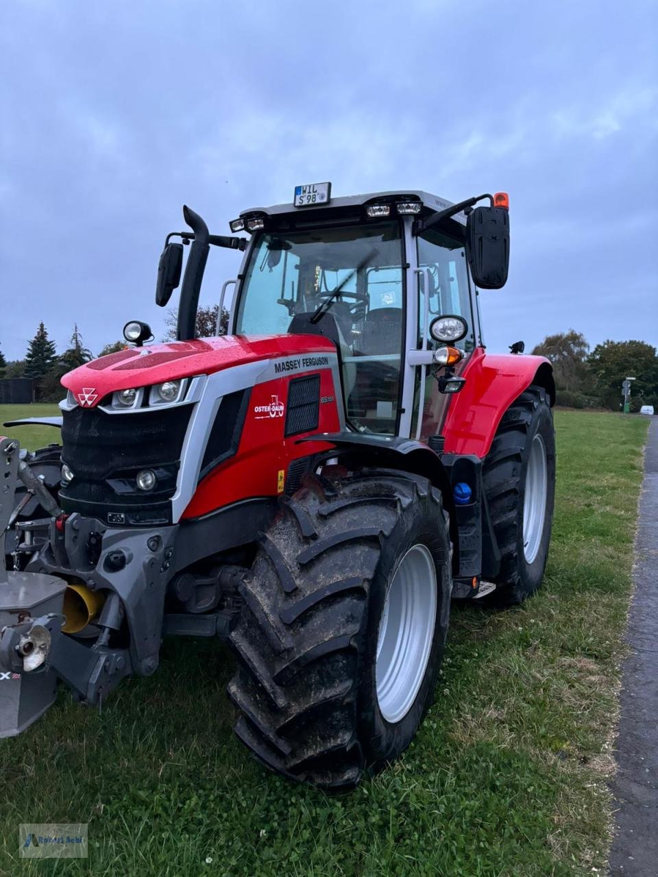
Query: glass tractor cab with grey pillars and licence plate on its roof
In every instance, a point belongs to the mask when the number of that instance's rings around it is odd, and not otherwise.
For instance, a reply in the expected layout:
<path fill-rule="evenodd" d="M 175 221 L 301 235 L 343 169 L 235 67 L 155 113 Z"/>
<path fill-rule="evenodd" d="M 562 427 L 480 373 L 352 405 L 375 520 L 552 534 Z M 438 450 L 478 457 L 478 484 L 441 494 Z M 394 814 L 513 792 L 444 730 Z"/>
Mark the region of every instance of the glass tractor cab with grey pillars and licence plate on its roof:
<path fill-rule="evenodd" d="M 325 183 L 297 187 L 292 204 L 243 212 L 232 231 L 245 229 L 252 238 L 229 333 L 324 335 L 339 352 L 352 429 L 432 433 L 446 401 L 437 371 L 449 366 L 458 375 L 482 344 L 468 267 L 470 202 L 454 205 L 420 191 L 332 199 Z M 506 210 L 479 210 L 502 214 L 496 217 L 502 285 Z M 475 217 L 482 225 L 482 213 Z M 438 353 L 448 346 L 449 353 Z M 461 389 L 459 381 L 450 386 Z"/>

